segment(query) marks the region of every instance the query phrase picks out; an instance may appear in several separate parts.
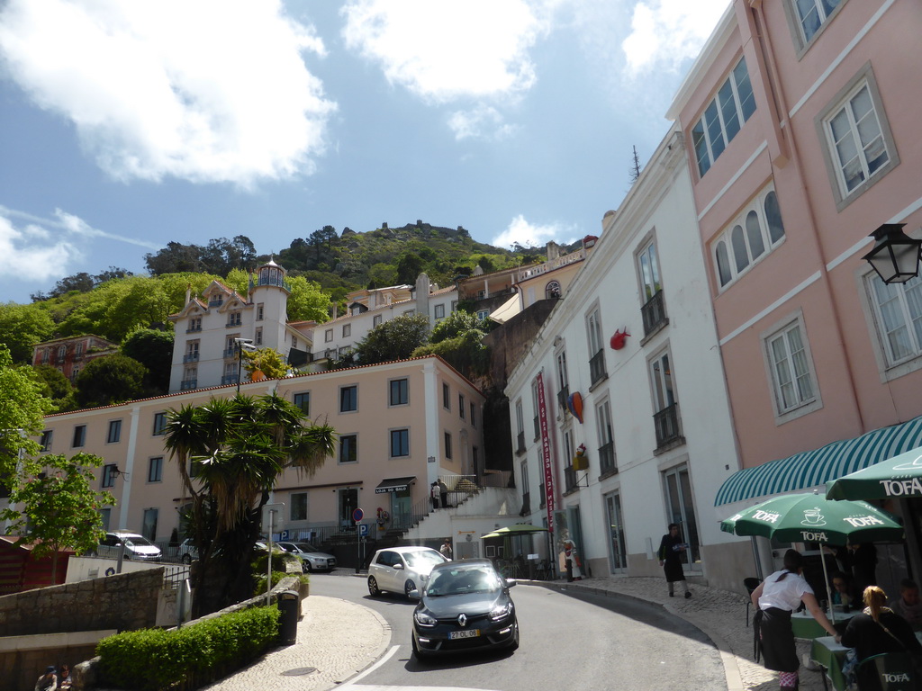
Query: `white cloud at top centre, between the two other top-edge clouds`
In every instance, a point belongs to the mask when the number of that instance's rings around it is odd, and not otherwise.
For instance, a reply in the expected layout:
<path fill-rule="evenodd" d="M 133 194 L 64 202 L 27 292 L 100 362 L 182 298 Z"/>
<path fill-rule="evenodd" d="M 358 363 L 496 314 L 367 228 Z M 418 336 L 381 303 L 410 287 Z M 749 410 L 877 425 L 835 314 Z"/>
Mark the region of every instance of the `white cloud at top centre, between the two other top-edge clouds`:
<path fill-rule="evenodd" d="M 514 97 L 535 83 L 528 52 L 549 25 L 525 0 L 352 0 L 350 49 L 424 100 Z"/>

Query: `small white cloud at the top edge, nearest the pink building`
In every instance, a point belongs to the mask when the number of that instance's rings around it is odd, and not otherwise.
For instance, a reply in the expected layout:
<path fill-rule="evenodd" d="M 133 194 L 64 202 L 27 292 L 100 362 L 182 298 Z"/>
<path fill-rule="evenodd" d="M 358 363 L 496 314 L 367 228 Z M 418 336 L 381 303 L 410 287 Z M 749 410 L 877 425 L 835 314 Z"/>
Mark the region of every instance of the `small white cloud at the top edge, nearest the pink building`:
<path fill-rule="evenodd" d="M 676 70 L 698 55 L 727 0 L 647 0 L 633 8 L 631 34 L 621 43 L 626 69 L 640 76 L 656 69 Z"/>

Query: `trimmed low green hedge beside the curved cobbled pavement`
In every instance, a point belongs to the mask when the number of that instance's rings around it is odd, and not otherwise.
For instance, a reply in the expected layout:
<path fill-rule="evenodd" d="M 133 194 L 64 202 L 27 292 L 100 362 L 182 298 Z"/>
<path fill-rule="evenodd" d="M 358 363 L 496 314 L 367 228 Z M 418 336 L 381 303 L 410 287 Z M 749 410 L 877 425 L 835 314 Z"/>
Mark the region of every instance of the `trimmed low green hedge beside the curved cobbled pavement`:
<path fill-rule="evenodd" d="M 159 628 L 116 634 L 96 646 L 100 681 L 157 691 L 195 675 L 231 671 L 278 638 L 278 607 L 254 607 L 174 631 Z"/>

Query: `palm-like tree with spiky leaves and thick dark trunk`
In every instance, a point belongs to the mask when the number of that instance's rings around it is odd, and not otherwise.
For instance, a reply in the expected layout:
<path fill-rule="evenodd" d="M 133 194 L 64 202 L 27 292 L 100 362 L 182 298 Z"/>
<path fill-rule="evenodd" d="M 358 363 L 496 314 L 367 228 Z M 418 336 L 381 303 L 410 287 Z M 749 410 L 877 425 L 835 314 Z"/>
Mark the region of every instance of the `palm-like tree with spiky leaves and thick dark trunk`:
<path fill-rule="evenodd" d="M 183 496 L 192 498 L 199 546 L 196 614 L 249 597 L 249 560 L 269 492 L 286 468 L 312 476 L 334 455 L 335 438 L 333 427 L 310 423 L 276 394 L 212 399 L 169 413 L 165 446 L 179 466 Z"/>

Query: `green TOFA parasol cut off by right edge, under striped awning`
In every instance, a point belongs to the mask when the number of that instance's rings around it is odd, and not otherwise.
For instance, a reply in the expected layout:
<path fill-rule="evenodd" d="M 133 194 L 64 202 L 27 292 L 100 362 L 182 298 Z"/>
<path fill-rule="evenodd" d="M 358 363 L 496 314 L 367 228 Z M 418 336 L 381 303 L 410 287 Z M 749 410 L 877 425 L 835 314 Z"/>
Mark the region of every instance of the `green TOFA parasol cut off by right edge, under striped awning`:
<path fill-rule="evenodd" d="M 844 475 L 826 486 L 830 499 L 922 497 L 922 449 Z"/>

